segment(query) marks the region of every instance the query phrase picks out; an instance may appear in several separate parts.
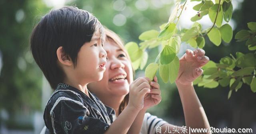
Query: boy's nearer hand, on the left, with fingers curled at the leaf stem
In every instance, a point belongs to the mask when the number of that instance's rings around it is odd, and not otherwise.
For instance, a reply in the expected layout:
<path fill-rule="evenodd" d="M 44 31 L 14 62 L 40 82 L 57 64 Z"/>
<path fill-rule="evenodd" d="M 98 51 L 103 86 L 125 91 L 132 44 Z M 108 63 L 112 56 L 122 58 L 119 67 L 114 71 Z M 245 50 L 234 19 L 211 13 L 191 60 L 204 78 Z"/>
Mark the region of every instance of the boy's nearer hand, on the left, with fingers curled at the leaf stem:
<path fill-rule="evenodd" d="M 150 92 L 150 79 L 147 77 L 137 78 L 130 84 L 129 102 L 127 106 L 142 110 L 144 106 L 144 96 Z"/>

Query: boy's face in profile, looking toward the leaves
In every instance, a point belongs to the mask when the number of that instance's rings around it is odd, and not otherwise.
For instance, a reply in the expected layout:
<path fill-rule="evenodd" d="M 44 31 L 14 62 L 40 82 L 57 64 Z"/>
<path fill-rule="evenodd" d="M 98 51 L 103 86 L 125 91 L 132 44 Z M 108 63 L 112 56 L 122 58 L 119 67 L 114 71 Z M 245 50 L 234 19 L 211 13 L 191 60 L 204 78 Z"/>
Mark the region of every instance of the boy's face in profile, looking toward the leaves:
<path fill-rule="evenodd" d="M 74 69 L 78 81 L 89 83 L 101 80 L 106 70 L 106 55 L 100 34 L 94 34 L 92 40 L 86 42 L 78 52 L 77 64 Z"/>

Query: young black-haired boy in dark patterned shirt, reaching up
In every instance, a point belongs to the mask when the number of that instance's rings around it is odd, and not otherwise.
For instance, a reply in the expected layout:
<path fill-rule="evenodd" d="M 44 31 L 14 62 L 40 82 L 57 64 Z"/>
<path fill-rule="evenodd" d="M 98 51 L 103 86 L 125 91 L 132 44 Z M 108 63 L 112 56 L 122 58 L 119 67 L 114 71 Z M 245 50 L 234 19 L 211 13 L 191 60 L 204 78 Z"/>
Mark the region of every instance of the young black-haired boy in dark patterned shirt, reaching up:
<path fill-rule="evenodd" d="M 89 12 L 76 7 L 51 10 L 32 31 L 32 55 L 55 92 L 44 110 L 48 133 L 126 134 L 150 92 L 146 78 L 130 86 L 128 106 L 115 119 L 112 108 L 87 89 L 106 70 L 104 30 Z M 115 120 L 115 121 L 114 121 Z"/>

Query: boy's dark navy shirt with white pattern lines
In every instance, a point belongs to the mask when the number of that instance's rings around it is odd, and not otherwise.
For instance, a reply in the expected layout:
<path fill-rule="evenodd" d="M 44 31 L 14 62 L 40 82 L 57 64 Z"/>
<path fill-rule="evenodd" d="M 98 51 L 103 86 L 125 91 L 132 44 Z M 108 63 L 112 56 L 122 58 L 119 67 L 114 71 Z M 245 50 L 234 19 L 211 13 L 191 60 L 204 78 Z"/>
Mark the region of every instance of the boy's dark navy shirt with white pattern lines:
<path fill-rule="evenodd" d="M 46 134 L 103 134 L 115 120 L 114 109 L 88 91 L 58 84 L 44 110 Z"/>

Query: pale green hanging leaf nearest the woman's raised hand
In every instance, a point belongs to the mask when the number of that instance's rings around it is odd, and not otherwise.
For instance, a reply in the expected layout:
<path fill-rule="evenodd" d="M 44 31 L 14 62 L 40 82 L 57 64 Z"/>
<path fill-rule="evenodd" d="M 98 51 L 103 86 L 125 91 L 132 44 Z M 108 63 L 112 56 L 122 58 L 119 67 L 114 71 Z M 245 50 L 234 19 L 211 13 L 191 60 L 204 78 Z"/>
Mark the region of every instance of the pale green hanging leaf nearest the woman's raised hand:
<path fill-rule="evenodd" d="M 180 60 L 178 56 L 175 56 L 174 60 L 169 64 L 169 80 L 171 83 L 175 82 L 178 77 L 180 69 Z"/>

